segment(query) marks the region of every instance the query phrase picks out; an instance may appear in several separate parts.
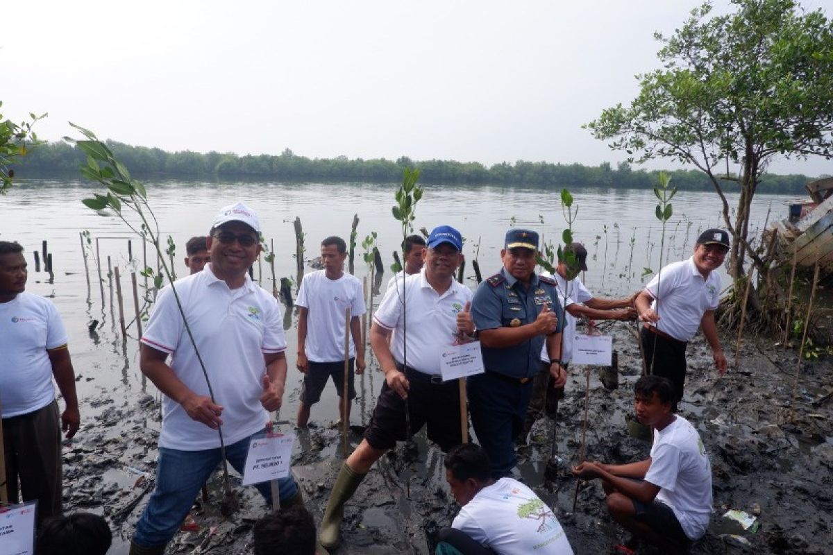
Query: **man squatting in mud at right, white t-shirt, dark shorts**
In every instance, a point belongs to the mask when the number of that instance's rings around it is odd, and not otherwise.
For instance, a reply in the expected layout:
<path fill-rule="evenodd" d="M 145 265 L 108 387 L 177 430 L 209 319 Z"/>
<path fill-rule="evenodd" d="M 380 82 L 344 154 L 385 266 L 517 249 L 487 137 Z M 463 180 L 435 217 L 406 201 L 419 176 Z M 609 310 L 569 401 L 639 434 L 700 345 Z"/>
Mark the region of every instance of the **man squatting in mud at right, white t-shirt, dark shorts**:
<path fill-rule="evenodd" d="M 675 399 L 670 379 L 642 376 L 634 402 L 636 418 L 654 429 L 651 456 L 573 468 L 578 478 L 601 478 L 611 517 L 634 534 L 629 544 L 644 539 L 664 553 L 686 553 L 706 533 L 711 514 L 711 464 L 694 426 L 671 412 Z"/>

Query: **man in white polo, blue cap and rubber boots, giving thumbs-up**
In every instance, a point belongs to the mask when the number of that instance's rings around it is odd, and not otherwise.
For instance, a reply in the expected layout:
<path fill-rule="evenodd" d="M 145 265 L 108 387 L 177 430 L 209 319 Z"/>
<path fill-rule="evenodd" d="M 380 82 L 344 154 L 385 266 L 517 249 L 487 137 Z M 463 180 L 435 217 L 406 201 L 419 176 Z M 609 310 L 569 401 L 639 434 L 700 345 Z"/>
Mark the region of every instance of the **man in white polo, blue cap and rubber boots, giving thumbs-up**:
<path fill-rule="evenodd" d="M 456 379 L 442 381 L 440 359 L 461 334 L 474 333 L 468 313 L 473 295 L 454 280 L 461 259 L 460 232 L 440 225 L 428 235 L 427 247 L 421 273 L 407 277 L 404 290 L 387 290 L 373 315 L 370 341 L 385 383 L 362 444 L 347 458 L 332 487 L 319 535 L 324 548 L 340 542 L 344 503 L 372 464 L 397 441 L 410 439 L 406 410 L 411 434 L 427 424 L 428 439 L 444 451 L 462 441 L 459 385 Z"/>

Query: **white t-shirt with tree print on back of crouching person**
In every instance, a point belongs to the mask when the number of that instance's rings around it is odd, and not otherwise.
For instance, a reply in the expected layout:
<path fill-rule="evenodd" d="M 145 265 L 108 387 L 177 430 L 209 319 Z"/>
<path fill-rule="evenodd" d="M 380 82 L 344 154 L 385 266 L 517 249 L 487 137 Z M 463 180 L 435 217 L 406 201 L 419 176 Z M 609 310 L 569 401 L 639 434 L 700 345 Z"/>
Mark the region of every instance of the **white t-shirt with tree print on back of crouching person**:
<path fill-rule="evenodd" d="M 573 553 L 555 513 L 513 478 L 501 478 L 477 492 L 451 527 L 498 555 Z"/>

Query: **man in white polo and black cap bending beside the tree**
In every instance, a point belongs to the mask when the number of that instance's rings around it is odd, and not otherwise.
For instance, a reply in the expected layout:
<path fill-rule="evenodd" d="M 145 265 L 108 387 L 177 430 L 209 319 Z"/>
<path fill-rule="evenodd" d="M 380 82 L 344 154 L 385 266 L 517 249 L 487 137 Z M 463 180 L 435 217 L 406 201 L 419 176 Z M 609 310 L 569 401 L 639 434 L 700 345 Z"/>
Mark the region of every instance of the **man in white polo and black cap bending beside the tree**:
<path fill-rule="evenodd" d="M 726 372 L 715 323 L 721 300 L 721 276 L 715 270 L 723 265 L 729 246 L 726 231 L 703 231 L 691 258 L 666 265 L 636 296 L 636 313 L 645 323 L 641 342 L 647 373 L 671 379 L 675 411 L 686 384 L 686 345 L 698 327 L 711 347 L 717 370 L 721 375 Z"/>

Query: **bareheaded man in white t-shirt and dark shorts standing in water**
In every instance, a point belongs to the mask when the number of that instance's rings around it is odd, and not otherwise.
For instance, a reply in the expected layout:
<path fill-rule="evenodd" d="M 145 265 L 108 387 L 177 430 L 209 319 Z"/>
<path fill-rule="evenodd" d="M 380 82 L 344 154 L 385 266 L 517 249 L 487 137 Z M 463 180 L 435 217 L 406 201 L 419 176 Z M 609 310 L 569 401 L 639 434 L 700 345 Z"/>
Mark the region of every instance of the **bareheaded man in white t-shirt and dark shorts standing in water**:
<path fill-rule="evenodd" d="M 356 399 L 355 374 L 365 369 L 362 318 L 365 313 L 362 282 L 344 272 L 347 245 L 341 237 L 327 237 L 321 242 L 323 270 L 304 276 L 298 291 L 298 359 L 297 369 L 304 374 L 297 426 L 307 428 L 310 409 L 321 399 L 321 392 L 332 378 L 339 399 L 338 414 L 350 421 L 351 400 Z M 344 394 L 344 315 L 350 307 L 348 344 L 347 399 Z M 346 406 L 345 406 L 346 405 Z"/>

